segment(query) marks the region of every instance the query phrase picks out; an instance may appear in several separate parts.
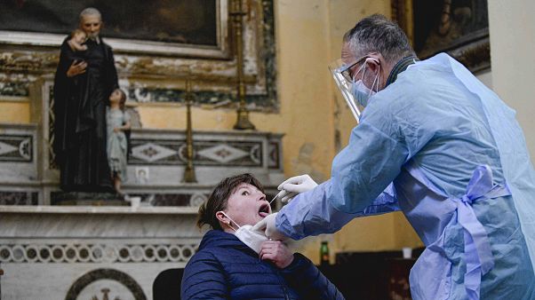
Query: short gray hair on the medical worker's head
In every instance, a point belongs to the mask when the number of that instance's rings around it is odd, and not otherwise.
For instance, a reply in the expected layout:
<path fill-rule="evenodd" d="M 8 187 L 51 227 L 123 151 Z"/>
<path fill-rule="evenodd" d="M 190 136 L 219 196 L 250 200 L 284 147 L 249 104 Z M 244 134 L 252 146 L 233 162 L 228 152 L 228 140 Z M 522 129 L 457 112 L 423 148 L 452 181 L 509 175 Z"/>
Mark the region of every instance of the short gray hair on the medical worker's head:
<path fill-rule="evenodd" d="M 379 52 L 387 63 L 394 65 L 399 59 L 416 55 L 402 28 L 380 14 L 373 14 L 356 23 L 344 35 L 344 43 L 359 58 Z"/>

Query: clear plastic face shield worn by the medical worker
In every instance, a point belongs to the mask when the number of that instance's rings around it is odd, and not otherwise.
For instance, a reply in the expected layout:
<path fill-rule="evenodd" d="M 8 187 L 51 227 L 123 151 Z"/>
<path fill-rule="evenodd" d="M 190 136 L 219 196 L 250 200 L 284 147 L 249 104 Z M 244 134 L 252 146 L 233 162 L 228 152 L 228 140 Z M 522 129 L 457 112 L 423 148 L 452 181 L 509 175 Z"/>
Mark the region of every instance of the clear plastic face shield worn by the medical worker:
<path fill-rule="evenodd" d="M 329 64 L 329 70 L 331 71 L 332 78 L 334 78 L 334 82 L 341 91 L 342 96 L 344 96 L 344 99 L 346 99 L 347 106 L 349 109 L 351 109 L 351 113 L 353 113 L 357 122 L 360 120 L 360 115 L 364 107 L 360 105 L 358 100 L 355 99 L 355 96 L 353 95 L 352 76 L 354 75 L 351 74 L 351 68 L 363 63 L 363 61 L 367 58 L 369 58 L 369 56 L 363 56 L 362 58 L 356 59 L 350 64 L 344 64 L 342 59 L 336 59 Z"/>

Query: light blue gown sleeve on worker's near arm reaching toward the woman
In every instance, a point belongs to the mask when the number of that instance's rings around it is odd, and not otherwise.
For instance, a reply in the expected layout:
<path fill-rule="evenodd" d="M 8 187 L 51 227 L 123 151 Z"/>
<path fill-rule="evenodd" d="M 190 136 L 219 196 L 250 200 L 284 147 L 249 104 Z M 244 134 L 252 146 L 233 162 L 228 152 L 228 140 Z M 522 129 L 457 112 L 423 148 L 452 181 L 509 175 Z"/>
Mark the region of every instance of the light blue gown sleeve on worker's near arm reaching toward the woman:
<path fill-rule="evenodd" d="M 281 233 L 299 240 L 334 233 L 354 217 L 400 210 L 392 182 L 419 148 L 414 141 L 425 143 L 428 136 L 413 118 L 398 114 L 411 109 L 399 95 L 412 96 L 406 91 L 374 96 L 349 144 L 334 158 L 331 179 L 300 193 L 278 213 Z"/>

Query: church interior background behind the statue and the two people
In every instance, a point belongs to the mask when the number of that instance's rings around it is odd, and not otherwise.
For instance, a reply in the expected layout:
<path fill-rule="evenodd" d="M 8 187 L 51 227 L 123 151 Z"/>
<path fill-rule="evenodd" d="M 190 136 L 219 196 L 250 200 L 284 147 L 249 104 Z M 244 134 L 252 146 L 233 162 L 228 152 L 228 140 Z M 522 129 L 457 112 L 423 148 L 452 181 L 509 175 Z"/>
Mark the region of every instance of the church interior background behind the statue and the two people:
<path fill-rule="evenodd" d="M 130 117 L 120 193 L 60 174 L 55 75 L 86 7 L 102 14 Z M 3 1 L 0 299 L 180 298 L 198 208 L 222 178 L 251 173 L 268 200 L 287 178 L 331 178 L 358 125 L 328 66 L 374 13 L 419 59 L 447 52 L 514 108 L 535 157 L 532 12 L 530 0 Z M 289 244 L 347 299 L 411 299 L 424 249 L 401 211 Z"/>

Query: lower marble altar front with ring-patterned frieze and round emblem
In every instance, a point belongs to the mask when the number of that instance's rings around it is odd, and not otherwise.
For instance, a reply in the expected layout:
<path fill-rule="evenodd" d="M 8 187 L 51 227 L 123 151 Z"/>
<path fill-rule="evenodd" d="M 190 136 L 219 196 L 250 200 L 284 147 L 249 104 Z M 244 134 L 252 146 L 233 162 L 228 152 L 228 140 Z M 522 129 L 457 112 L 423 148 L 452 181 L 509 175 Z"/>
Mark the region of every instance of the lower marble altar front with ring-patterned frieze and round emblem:
<path fill-rule="evenodd" d="M 196 209 L 0 207 L 2 299 L 152 299 L 204 232 Z"/>

